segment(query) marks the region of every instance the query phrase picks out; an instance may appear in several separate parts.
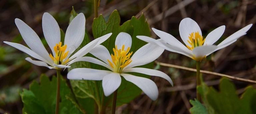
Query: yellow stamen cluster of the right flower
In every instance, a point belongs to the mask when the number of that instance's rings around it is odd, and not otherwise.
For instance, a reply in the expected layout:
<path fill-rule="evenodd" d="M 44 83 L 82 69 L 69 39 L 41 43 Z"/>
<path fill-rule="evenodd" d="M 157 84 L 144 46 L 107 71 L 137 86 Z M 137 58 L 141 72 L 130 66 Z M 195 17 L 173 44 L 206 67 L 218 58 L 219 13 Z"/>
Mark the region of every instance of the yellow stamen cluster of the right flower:
<path fill-rule="evenodd" d="M 197 32 L 192 32 L 191 34 L 189 34 L 188 38 L 189 38 L 188 43 L 191 46 L 189 46 L 189 45 L 186 45 L 186 46 L 189 50 L 193 50 L 197 46 L 202 46 L 204 44 L 204 40 L 205 40 L 205 39 L 203 39 L 203 36 L 201 36 L 199 34 L 198 31 Z"/>

